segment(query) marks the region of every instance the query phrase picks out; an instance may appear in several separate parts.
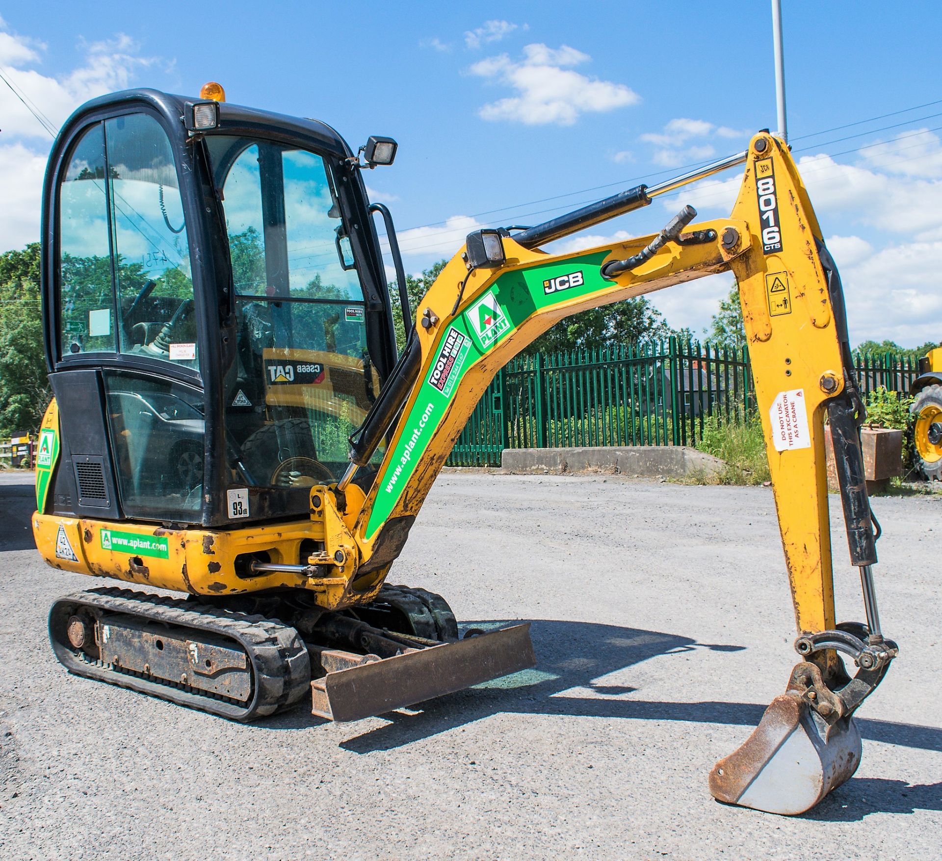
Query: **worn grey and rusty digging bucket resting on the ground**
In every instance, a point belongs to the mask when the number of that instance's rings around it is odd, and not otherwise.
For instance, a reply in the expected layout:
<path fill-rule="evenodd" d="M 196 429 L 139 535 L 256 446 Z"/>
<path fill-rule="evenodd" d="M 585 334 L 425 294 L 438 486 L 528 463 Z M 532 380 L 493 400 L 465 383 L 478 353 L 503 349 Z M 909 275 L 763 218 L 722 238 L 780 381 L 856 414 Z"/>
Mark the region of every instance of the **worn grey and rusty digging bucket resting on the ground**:
<path fill-rule="evenodd" d="M 755 732 L 709 775 L 713 797 L 796 816 L 849 780 L 860 764 L 853 717 L 828 725 L 800 694 L 776 696 Z"/>

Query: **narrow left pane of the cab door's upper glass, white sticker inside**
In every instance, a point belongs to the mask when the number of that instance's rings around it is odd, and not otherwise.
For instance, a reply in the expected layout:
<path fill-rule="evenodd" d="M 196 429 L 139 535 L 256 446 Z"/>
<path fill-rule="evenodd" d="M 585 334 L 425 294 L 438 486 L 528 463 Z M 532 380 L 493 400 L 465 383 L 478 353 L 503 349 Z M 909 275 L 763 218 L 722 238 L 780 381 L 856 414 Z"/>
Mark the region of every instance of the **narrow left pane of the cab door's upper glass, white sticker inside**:
<path fill-rule="evenodd" d="M 79 137 L 59 185 L 59 346 L 112 352 L 114 294 L 101 123 Z"/>

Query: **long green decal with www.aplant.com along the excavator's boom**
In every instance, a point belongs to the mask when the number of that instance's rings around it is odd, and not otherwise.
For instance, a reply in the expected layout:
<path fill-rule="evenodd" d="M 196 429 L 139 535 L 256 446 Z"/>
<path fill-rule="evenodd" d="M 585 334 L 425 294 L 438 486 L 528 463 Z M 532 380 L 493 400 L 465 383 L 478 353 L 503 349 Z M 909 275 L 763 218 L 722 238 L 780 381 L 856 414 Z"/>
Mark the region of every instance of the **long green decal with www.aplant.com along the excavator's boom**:
<path fill-rule="evenodd" d="M 435 354 L 435 361 L 431 363 L 393 454 L 386 461 L 385 469 L 378 479 L 379 489 L 366 521 L 367 538 L 376 534 L 402 496 L 402 491 L 409 484 L 415 470 L 415 463 L 424 454 L 432 436 L 442 423 L 458 383 L 468 368 L 509 337 L 534 312 L 561 305 L 570 299 L 608 290 L 611 282 L 599 274 L 599 267 L 608 254 L 608 251 L 597 251 L 560 263 L 546 263 L 530 269 L 508 272 L 497 279 L 489 290 L 472 302 L 467 311 L 446 328 Z M 545 292 L 545 281 L 574 272 L 582 274 L 581 284 L 559 292 Z M 431 378 L 435 374 L 443 350 L 446 349 L 452 330 L 468 340 L 456 350 L 447 382 L 440 390 L 432 385 Z"/>

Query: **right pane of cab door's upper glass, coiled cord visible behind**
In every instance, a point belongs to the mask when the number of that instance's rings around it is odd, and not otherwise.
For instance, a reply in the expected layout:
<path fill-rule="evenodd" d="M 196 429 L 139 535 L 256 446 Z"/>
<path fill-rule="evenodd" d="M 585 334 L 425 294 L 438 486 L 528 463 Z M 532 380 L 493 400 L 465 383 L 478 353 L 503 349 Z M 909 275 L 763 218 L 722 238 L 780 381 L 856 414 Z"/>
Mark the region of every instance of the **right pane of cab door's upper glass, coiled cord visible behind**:
<path fill-rule="evenodd" d="M 173 152 L 146 114 L 106 120 L 122 353 L 199 366 L 187 224 Z"/>

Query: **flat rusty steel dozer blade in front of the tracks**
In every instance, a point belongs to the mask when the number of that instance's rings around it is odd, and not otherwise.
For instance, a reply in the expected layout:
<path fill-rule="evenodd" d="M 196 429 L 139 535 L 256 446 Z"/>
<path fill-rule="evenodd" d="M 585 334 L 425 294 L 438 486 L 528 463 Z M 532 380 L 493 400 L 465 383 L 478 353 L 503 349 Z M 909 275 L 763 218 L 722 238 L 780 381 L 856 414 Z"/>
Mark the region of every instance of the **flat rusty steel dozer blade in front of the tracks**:
<path fill-rule="evenodd" d="M 358 721 L 536 665 L 529 623 L 362 663 L 311 682 L 313 713 Z"/>

